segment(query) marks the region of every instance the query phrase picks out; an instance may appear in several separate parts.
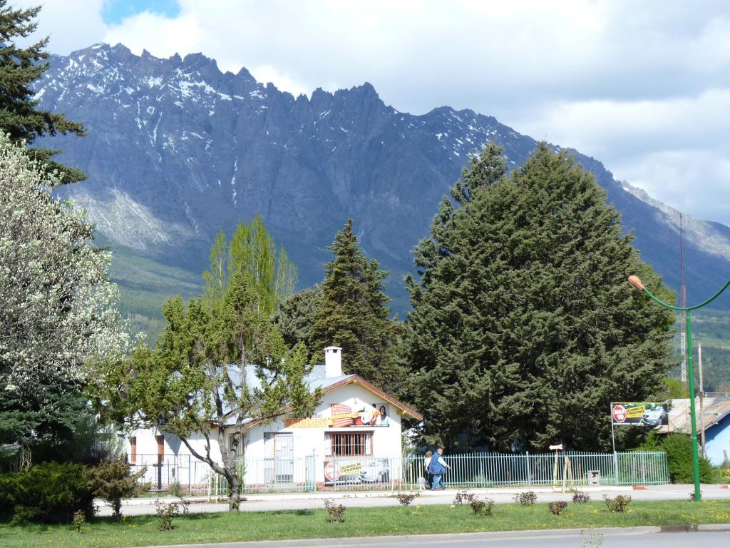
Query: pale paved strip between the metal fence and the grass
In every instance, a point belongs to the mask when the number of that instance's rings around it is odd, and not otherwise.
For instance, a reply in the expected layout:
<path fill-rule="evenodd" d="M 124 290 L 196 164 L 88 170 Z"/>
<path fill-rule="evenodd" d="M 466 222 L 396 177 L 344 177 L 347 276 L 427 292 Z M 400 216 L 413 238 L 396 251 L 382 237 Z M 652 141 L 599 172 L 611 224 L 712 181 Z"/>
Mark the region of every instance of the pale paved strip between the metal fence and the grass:
<path fill-rule="evenodd" d="M 480 497 L 492 498 L 496 503 L 511 503 L 514 501 L 515 493 L 527 489 L 491 490 L 474 489 L 471 492 Z M 590 493 L 594 501 L 601 501 L 604 495 L 615 497 L 616 495 L 631 495 L 636 501 L 686 501 L 689 493 L 694 490 L 691 485 L 661 485 L 650 486 L 646 490 L 632 490 L 631 487 L 605 487 L 585 489 Z M 550 490 L 534 489 L 537 493 L 537 501 L 548 503 L 550 501 L 570 501 L 570 493 L 552 492 Z M 418 504 L 450 504 L 453 501 L 456 490 L 445 490 L 438 492 L 423 492 L 418 497 Z M 730 490 L 722 489 L 719 485 L 703 485 L 702 496 L 705 499 L 730 499 Z M 390 492 L 316 492 L 316 493 L 289 493 L 277 495 L 248 495 L 248 500 L 241 504 L 242 511 L 265 511 L 265 510 L 304 510 L 322 508 L 324 498 L 336 498 L 345 506 L 372 507 L 372 506 L 397 506 L 398 499 Z M 166 498 L 164 501 L 176 501 L 174 498 Z M 227 511 L 226 503 L 209 503 L 204 498 L 198 498 L 190 506 L 194 513 L 212 513 Z M 133 501 L 126 501 L 122 513 L 128 516 L 155 513 L 155 499 L 142 498 Z M 102 516 L 111 514 L 109 506 L 101 506 Z M 729 542 L 730 544 L 730 542 Z"/>

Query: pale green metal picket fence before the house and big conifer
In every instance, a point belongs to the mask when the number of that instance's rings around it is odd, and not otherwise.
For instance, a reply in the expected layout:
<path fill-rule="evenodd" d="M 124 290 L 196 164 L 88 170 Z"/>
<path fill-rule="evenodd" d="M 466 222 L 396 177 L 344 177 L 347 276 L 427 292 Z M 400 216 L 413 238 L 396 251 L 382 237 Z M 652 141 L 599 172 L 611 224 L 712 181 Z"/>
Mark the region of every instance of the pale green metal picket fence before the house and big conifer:
<path fill-rule="evenodd" d="M 447 455 L 451 487 L 579 487 L 589 484 L 669 483 L 664 452 Z M 153 491 L 179 488 L 192 495 L 225 496 L 228 484 L 210 466 L 188 455 L 137 454 L 134 470 L 147 466 L 141 482 Z M 322 457 L 242 459 L 242 492 L 419 490 L 428 474 L 423 457 Z M 174 486 L 174 487 L 173 487 Z"/>

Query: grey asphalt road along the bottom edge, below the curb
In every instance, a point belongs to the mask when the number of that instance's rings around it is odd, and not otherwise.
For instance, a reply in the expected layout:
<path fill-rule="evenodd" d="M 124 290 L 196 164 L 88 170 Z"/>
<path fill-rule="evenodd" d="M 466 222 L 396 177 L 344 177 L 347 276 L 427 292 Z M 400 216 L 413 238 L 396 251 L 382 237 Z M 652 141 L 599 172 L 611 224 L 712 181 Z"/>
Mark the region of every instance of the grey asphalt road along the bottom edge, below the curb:
<path fill-rule="evenodd" d="M 593 533 L 581 530 L 525 531 L 522 533 L 473 533 L 462 535 L 418 535 L 374 537 L 370 539 L 328 539 L 276 542 L 229 542 L 194 544 L 171 548 L 680 548 L 690 545 L 726 547 L 730 533 L 699 531 L 694 533 L 653 533 L 657 528 L 602 529 Z"/>

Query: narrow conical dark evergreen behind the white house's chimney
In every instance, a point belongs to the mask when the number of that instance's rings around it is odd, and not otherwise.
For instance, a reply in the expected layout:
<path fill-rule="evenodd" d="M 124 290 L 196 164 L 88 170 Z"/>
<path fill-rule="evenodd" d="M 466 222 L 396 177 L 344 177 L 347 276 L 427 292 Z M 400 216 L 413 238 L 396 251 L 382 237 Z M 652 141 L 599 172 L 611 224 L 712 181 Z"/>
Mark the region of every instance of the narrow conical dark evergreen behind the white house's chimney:
<path fill-rule="evenodd" d="M 328 247 L 334 258 L 325 265 L 322 297 L 314 313 L 310 340 L 315 352 L 342 346 L 342 369 L 357 373 L 380 387 L 394 376 L 396 365 L 389 346 L 393 324 L 388 319 L 383 280 L 388 275 L 375 259 L 366 259 L 353 232 L 353 220 L 337 232 Z"/>

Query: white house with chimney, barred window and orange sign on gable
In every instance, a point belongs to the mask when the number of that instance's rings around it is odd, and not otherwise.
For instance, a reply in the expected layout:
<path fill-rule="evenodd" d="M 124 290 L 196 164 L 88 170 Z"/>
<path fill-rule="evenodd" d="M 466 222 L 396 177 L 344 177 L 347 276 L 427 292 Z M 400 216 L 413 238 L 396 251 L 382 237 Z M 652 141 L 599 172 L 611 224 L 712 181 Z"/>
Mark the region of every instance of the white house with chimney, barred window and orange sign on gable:
<path fill-rule="evenodd" d="M 253 367 L 247 367 L 245 374 L 254 378 Z M 323 390 L 312 417 L 247 422 L 245 488 L 399 482 L 401 421 L 421 420 L 418 411 L 358 375 L 343 375 L 342 349 L 337 346 L 325 349 L 324 365 L 315 365 L 305 381 L 312 390 Z M 218 442 L 211 443 L 220 460 Z M 202 435 L 191 445 L 204 454 Z M 203 487 L 212 477 L 210 467 L 193 457 L 180 438 L 155 429 L 137 430 L 127 440 L 127 453 L 131 464 L 147 465 L 146 479 L 154 487 L 172 482 Z"/>

